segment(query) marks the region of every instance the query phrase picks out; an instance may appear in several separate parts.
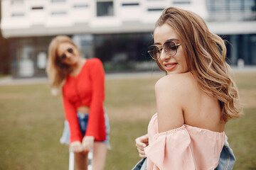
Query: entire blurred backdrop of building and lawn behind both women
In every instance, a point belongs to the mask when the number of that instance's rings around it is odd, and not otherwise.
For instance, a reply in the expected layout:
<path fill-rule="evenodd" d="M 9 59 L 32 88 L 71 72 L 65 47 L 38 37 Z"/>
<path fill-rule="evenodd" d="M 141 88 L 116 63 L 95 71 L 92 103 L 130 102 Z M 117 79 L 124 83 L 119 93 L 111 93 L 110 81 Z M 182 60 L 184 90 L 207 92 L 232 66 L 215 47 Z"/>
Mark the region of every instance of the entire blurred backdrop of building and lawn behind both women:
<path fill-rule="evenodd" d="M 69 35 L 82 57 L 98 57 L 106 71 L 110 118 L 107 170 L 132 169 L 139 161 L 135 138 L 156 112 L 154 84 L 164 76 L 147 55 L 154 23 L 169 6 L 202 16 L 228 40 L 244 115 L 225 133 L 235 170 L 256 169 L 256 0 L 1 0 L 0 170 L 68 169 L 60 145 L 61 96 L 50 94 L 48 45 Z"/>

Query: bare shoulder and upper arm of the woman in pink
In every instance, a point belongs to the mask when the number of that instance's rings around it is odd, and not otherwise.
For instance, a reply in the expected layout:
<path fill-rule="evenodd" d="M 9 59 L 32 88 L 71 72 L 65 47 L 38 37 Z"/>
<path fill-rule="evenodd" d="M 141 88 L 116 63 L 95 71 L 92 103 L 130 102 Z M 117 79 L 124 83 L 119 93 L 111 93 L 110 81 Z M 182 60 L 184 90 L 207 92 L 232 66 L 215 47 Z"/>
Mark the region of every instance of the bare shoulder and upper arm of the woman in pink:
<path fill-rule="evenodd" d="M 190 90 L 188 88 L 191 83 L 193 83 L 191 73 L 170 74 L 156 82 L 156 110 L 159 132 L 183 125 L 184 98 L 189 95 Z"/>

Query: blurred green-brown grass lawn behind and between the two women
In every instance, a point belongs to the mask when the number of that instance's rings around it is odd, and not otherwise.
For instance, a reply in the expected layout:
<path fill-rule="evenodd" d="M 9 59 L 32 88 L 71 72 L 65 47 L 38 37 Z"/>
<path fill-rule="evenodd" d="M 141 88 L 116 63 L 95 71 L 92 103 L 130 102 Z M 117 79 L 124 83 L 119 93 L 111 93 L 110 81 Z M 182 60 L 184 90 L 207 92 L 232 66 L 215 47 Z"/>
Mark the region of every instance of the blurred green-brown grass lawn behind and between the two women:
<path fill-rule="evenodd" d="M 256 73 L 236 73 L 244 115 L 225 132 L 237 158 L 235 170 L 256 169 Z M 132 169 L 139 161 L 134 139 L 146 133 L 156 111 L 154 84 L 159 77 L 107 79 L 105 107 L 112 149 L 107 170 Z M 68 169 L 61 98 L 48 84 L 0 86 L 0 170 Z"/>

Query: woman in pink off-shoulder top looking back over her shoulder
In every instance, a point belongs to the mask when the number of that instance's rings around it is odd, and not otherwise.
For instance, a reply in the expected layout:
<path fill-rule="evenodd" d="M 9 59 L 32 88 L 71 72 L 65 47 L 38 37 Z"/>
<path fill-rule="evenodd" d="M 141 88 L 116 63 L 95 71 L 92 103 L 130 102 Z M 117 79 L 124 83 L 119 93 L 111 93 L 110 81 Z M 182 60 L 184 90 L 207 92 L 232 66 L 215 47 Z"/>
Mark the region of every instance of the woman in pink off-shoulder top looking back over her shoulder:
<path fill-rule="evenodd" d="M 146 157 L 141 169 L 215 169 L 225 123 L 241 114 L 224 41 L 196 13 L 170 7 L 156 21 L 148 52 L 166 76 L 155 85 L 148 134 L 136 140 Z"/>

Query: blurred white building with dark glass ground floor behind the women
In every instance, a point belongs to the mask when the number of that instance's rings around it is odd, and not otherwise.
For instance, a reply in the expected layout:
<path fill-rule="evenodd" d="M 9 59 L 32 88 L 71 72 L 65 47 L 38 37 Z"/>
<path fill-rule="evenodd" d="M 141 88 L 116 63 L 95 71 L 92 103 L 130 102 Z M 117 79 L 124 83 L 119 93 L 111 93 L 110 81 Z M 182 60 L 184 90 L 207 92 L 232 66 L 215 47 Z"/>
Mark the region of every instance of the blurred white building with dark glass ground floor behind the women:
<path fill-rule="evenodd" d="M 156 69 L 146 50 L 154 23 L 169 6 L 198 13 L 228 40 L 228 62 L 256 64 L 255 0 L 1 0 L 1 31 L 9 39 L 13 77 L 45 77 L 48 45 L 69 35 L 83 57 L 106 72 Z"/>

